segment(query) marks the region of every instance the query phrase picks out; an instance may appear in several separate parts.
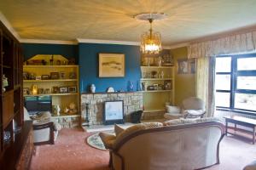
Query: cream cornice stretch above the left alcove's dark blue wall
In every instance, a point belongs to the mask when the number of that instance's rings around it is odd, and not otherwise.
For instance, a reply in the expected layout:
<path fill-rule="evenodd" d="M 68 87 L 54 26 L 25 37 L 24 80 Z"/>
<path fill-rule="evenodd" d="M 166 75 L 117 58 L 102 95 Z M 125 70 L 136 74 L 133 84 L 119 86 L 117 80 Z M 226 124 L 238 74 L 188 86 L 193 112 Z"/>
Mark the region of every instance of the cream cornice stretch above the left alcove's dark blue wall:
<path fill-rule="evenodd" d="M 49 43 L 49 44 L 67 44 L 76 45 L 77 41 L 64 41 L 64 40 L 43 40 L 43 39 L 20 39 L 22 43 Z"/>

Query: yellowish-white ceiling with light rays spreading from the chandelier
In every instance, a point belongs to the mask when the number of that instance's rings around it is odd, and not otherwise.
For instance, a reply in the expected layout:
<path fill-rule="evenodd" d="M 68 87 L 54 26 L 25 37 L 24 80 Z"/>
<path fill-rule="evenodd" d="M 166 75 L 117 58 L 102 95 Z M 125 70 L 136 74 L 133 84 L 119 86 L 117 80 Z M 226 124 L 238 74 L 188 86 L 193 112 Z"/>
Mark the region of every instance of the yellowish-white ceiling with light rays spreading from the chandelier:
<path fill-rule="evenodd" d="M 149 24 L 136 14 L 165 13 L 155 21 L 164 45 L 256 26 L 256 0 L 1 0 L 0 11 L 24 39 L 99 39 L 139 42 Z"/>

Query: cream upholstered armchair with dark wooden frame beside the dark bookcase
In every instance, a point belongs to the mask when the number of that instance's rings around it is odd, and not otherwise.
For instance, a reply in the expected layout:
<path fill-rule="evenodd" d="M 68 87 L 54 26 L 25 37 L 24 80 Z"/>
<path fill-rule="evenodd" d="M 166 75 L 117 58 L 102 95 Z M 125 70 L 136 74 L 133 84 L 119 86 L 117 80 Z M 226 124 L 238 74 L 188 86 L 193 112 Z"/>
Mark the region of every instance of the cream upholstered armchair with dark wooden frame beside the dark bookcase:
<path fill-rule="evenodd" d="M 33 143 L 39 144 L 55 144 L 60 125 L 50 119 L 49 112 L 41 112 L 38 116 L 29 116 L 24 107 L 24 119 L 33 121 Z"/>

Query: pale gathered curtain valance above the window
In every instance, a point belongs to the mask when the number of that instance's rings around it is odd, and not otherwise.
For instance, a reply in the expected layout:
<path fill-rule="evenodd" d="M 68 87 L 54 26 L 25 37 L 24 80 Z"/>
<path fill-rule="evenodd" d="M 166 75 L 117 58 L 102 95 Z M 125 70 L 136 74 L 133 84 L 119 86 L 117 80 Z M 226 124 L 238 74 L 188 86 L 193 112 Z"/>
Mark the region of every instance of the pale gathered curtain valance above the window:
<path fill-rule="evenodd" d="M 256 50 L 256 31 L 220 37 L 216 40 L 195 42 L 188 47 L 188 58 L 201 58 L 221 54 L 239 54 Z"/>

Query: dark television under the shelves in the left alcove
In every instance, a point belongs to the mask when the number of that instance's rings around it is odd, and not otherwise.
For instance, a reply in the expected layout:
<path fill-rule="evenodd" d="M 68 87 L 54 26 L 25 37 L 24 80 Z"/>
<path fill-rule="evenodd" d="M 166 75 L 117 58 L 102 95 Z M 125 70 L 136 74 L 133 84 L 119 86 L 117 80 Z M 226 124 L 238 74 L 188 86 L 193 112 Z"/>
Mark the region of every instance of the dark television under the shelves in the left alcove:
<path fill-rule="evenodd" d="M 36 114 L 40 111 L 51 112 L 52 98 L 50 95 L 26 96 L 24 100 L 29 114 Z"/>

